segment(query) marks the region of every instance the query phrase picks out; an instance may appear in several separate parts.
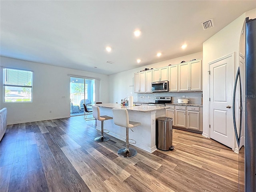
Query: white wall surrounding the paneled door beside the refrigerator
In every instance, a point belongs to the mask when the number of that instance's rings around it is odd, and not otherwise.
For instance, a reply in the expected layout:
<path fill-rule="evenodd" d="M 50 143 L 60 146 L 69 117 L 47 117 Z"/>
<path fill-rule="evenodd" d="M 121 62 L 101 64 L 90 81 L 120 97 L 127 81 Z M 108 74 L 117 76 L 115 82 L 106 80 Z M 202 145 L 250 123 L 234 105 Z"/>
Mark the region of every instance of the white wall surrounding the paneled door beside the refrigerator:
<path fill-rule="evenodd" d="M 256 18 L 256 9 L 242 14 L 236 20 L 228 24 L 228 26 L 203 43 L 203 135 L 206 137 L 210 137 L 208 64 L 218 58 L 235 52 L 234 70 L 231 72 L 233 73 L 233 76 L 235 75 L 239 59 L 238 51 L 240 32 L 242 30 L 244 19 L 247 16 L 250 16 L 250 18 Z"/>

